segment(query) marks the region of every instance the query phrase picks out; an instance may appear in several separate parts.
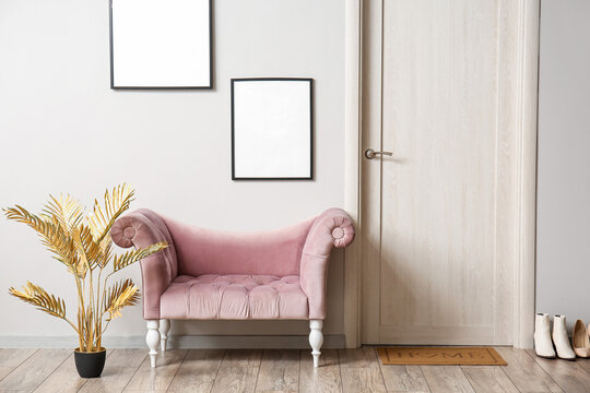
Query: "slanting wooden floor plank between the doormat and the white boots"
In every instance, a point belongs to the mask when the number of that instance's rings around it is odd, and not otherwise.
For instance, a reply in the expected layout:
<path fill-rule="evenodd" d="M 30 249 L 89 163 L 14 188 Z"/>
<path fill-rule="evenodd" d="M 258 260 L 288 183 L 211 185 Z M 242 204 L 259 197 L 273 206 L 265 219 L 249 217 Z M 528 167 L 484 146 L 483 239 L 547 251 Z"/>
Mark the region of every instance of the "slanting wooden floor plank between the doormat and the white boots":
<path fill-rule="evenodd" d="M 526 350 L 508 347 L 499 347 L 496 350 L 508 362 L 508 366 L 502 367 L 520 392 L 563 392 Z"/>

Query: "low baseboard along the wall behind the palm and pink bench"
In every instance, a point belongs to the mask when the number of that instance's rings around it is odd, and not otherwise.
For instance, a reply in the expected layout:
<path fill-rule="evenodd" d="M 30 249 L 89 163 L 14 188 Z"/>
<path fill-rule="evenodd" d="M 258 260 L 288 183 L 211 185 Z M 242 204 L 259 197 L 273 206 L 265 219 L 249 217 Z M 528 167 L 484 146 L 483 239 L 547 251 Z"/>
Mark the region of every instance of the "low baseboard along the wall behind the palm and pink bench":
<path fill-rule="evenodd" d="M 0 336 L 0 348 L 73 348 L 76 336 Z M 106 348 L 148 348 L 144 336 L 106 336 Z M 346 346 L 343 334 L 323 336 L 322 348 Z M 307 335 L 185 335 L 168 338 L 168 348 L 179 349 L 309 349 Z"/>

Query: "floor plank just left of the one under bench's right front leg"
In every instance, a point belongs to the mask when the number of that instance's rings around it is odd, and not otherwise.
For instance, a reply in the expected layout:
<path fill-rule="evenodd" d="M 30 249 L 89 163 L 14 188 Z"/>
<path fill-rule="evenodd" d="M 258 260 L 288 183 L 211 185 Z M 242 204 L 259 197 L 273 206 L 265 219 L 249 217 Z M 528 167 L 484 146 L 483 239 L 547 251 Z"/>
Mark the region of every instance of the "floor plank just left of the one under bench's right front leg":
<path fill-rule="evenodd" d="M 257 392 L 297 392 L 299 350 L 264 350 L 258 372 Z"/>

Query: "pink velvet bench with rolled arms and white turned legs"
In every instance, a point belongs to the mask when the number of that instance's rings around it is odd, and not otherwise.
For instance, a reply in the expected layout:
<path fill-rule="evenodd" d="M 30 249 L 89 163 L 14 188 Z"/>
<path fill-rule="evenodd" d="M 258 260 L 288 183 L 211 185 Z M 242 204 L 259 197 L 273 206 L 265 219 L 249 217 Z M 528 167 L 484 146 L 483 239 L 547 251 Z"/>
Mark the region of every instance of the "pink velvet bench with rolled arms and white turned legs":
<path fill-rule="evenodd" d="M 216 319 L 309 320 L 318 367 L 330 252 L 354 239 L 344 211 L 330 209 L 286 228 L 241 234 L 186 225 L 142 209 L 117 219 L 110 235 L 123 248 L 169 243 L 141 261 L 152 367 L 157 344 L 166 350 L 170 320 Z"/>

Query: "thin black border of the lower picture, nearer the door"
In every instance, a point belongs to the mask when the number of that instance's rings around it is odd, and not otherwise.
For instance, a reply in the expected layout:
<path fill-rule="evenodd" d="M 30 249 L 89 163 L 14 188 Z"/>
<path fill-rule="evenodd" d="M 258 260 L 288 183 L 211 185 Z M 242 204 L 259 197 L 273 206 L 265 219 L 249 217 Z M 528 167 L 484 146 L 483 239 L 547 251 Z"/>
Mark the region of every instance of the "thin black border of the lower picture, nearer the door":
<path fill-rule="evenodd" d="M 244 177 L 236 175 L 236 103 L 235 85 L 241 82 L 305 82 L 309 83 L 309 175 L 300 177 Z M 231 80 L 232 88 L 232 180 L 314 180 L 314 79 L 311 78 L 235 78 Z"/>

